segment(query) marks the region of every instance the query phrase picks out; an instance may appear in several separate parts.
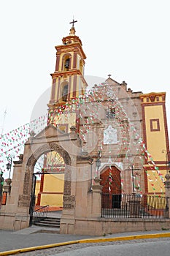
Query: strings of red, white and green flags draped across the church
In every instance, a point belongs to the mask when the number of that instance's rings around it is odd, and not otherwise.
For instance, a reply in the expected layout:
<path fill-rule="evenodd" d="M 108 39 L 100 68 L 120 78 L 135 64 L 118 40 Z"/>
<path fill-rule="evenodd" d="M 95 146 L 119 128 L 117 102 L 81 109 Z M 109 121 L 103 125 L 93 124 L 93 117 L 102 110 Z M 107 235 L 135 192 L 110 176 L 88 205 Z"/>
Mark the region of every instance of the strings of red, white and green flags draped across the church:
<path fill-rule="evenodd" d="M 131 164 L 131 152 L 134 154 L 138 152 L 140 154 L 140 159 L 142 164 L 144 165 L 144 158 L 147 160 L 150 165 L 150 170 L 155 172 L 158 177 L 155 175 L 155 180 L 152 178 L 148 178 L 152 189 L 155 189 L 155 184 L 161 188 L 163 191 L 163 182 L 164 178 L 159 170 L 158 166 L 155 165 L 155 162 L 152 159 L 152 156 L 147 151 L 146 146 L 144 145 L 144 141 L 138 133 L 136 132 L 136 128 L 133 124 L 131 124 L 131 120 L 128 118 L 125 110 L 123 109 L 123 105 L 118 101 L 117 97 L 114 94 L 112 89 L 109 89 L 109 86 L 105 84 L 101 84 L 98 87 L 93 88 L 90 91 L 87 91 L 86 94 L 81 95 L 80 97 L 76 97 L 66 104 L 58 106 L 58 108 L 50 109 L 48 115 L 41 116 L 39 118 L 34 119 L 30 123 L 24 124 L 17 129 L 13 129 L 10 132 L 7 132 L 4 135 L 0 135 L 0 168 L 5 171 L 7 157 L 12 155 L 14 157 L 18 156 L 23 152 L 24 144 L 28 140 L 30 136 L 30 132 L 34 130 L 37 134 L 42 129 L 44 129 L 47 124 L 53 124 L 55 127 L 58 125 L 58 121 L 61 116 L 64 114 L 67 119 L 72 117 L 73 113 L 78 113 L 78 118 L 76 119 L 77 127 L 81 123 L 79 127 L 78 133 L 82 141 L 85 141 L 85 135 L 93 129 L 93 125 L 96 120 L 102 121 L 100 119 L 100 110 L 114 110 L 112 115 L 115 115 L 115 120 L 117 121 L 117 129 L 120 131 L 120 139 L 121 139 L 121 150 L 125 151 L 125 159 Z M 111 118 L 111 116 L 109 116 Z M 80 122 L 84 120 L 84 122 Z M 128 135 L 128 136 L 127 136 Z M 135 139 L 135 140 L 134 140 Z M 101 134 L 98 135 L 98 150 L 103 151 L 104 148 L 104 138 Z M 120 150 L 120 143 L 117 143 L 117 151 Z M 119 155 L 117 154 L 117 157 Z M 108 164 L 110 167 L 109 171 L 109 192 L 112 187 L 112 163 L 116 162 L 116 159 L 112 159 L 112 150 L 109 146 L 109 160 Z M 146 175 L 149 176 L 149 173 L 146 170 Z M 132 182 L 134 182 L 134 188 L 138 189 L 139 192 L 142 193 L 142 187 L 139 181 L 138 176 L 132 177 Z M 121 189 L 124 187 L 124 179 L 123 173 L 120 172 L 120 183 Z"/>

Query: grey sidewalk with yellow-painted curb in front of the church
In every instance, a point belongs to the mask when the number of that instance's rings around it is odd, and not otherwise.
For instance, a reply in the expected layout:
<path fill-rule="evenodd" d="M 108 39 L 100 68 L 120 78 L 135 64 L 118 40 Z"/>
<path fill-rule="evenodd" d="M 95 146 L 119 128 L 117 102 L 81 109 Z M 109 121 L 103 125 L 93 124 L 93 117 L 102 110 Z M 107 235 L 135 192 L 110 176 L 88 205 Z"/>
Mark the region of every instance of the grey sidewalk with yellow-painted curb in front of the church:
<path fill-rule="evenodd" d="M 158 237 L 168 236 L 170 237 L 170 230 L 153 230 L 145 232 L 131 232 L 131 233 L 115 233 L 107 236 L 96 237 L 96 236 L 79 236 L 79 235 L 65 235 L 59 233 L 42 233 L 42 227 L 32 226 L 23 230 L 18 231 L 7 231 L 0 230 L 0 253 L 14 250 L 22 249 L 34 246 L 43 246 L 47 244 L 58 244 L 66 241 L 77 241 L 81 239 L 91 238 L 94 242 L 98 242 L 102 238 L 102 241 L 106 241 L 109 238 L 120 238 L 124 239 L 135 239 L 133 236 L 144 235 L 144 238 L 150 238 L 148 235 L 157 234 Z M 40 233 L 39 233 L 40 232 Z M 164 235 L 161 235 L 164 234 Z M 90 240 L 91 240 L 90 239 Z M 85 241 L 87 243 L 87 241 Z M 92 241 L 90 241 L 92 242 Z M 1 254 L 0 254 L 1 255 Z"/>

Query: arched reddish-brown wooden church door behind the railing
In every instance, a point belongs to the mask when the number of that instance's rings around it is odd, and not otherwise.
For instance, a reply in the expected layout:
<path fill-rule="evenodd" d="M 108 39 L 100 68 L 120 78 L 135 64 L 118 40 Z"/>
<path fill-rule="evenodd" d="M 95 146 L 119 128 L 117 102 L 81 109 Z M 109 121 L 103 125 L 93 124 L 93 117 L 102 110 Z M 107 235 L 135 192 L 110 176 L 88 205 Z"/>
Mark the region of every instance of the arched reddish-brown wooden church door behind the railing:
<path fill-rule="evenodd" d="M 117 167 L 107 167 L 101 172 L 101 207 L 102 208 L 120 208 L 122 190 L 120 170 Z"/>

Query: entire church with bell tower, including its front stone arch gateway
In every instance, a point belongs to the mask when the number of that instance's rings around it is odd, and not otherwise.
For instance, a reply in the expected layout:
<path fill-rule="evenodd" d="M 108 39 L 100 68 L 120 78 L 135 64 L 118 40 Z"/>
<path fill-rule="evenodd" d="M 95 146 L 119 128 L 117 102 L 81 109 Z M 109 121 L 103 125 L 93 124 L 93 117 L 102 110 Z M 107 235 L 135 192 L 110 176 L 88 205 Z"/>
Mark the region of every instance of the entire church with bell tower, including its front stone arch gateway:
<path fill-rule="evenodd" d="M 111 75 L 88 89 L 75 22 L 55 46 L 47 127 L 37 135 L 31 132 L 23 158 L 14 162 L 0 228 L 28 227 L 35 188 L 37 208 L 63 209 L 61 233 L 101 233 L 95 221 L 102 206 L 121 208 L 124 195 L 165 195 L 166 92 L 133 91 Z"/>

